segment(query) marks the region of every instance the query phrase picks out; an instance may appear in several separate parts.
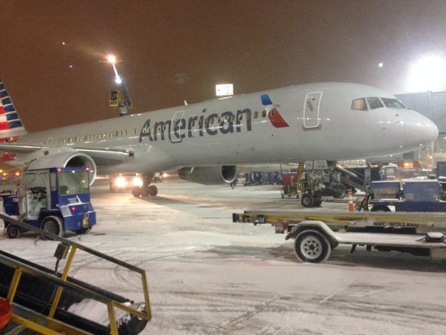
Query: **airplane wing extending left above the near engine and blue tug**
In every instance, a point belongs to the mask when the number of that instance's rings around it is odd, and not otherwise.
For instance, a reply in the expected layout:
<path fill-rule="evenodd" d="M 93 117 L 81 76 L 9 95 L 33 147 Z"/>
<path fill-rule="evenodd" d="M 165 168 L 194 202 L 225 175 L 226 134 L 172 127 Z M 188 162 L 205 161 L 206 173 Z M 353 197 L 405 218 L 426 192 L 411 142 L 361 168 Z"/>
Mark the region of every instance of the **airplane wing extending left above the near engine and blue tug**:
<path fill-rule="evenodd" d="M 31 154 L 42 149 L 55 149 L 57 146 L 40 144 L 0 143 L 0 151 L 14 154 Z M 66 147 L 63 147 L 66 148 Z M 122 164 L 126 158 L 134 156 L 134 152 L 128 149 L 96 148 L 96 147 L 70 147 L 93 158 L 96 165 Z"/>

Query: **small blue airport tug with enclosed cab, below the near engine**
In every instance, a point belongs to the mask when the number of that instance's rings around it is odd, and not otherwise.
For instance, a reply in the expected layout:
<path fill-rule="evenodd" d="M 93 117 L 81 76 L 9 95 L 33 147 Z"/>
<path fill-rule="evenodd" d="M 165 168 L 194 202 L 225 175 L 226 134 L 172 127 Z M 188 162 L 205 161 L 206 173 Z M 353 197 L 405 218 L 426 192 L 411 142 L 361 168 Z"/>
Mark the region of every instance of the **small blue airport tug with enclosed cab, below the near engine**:
<path fill-rule="evenodd" d="M 23 172 L 16 195 L 3 198 L 3 213 L 45 232 L 88 232 L 96 223 L 86 168 L 49 168 Z M 6 234 L 19 238 L 24 228 L 3 219 Z"/>

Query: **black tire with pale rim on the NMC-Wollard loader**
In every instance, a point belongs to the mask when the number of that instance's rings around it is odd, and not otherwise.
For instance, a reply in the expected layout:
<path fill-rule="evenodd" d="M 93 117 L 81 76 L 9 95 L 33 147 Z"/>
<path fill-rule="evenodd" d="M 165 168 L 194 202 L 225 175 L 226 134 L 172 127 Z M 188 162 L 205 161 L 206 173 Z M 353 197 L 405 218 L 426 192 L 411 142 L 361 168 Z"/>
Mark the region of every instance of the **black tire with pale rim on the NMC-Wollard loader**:
<path fill-rule="evenodd" d="M 317 230 L 303 230 L 294 241 L 294 253 L 301 262 L 323 263 L 330 256 L 330 241 Z"/>

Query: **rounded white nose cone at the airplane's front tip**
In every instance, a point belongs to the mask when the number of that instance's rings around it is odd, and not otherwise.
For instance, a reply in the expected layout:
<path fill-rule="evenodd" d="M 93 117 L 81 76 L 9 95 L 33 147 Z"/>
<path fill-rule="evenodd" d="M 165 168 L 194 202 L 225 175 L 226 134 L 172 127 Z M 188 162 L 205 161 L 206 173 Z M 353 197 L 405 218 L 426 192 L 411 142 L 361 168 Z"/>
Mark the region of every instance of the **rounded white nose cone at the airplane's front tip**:
<path fill-rule="evenodd" d="M 408 149 L 417 149 L 420 146 L 431 144 L 438 137 L 438 128 L 427 117 L 414 111 L 405 122 L 406 145 Z"/>

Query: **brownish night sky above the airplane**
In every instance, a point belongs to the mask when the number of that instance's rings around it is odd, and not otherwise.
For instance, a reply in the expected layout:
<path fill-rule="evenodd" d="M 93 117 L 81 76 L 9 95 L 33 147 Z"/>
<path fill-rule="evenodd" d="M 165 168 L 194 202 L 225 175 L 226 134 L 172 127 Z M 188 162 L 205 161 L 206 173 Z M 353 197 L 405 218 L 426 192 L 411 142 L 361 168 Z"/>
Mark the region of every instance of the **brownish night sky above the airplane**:
<path fill-rule="evenodd" d="M 224 82 L 235 94 L 325 81 L 398 94 L 414 61 L 446 56 L 446 1 L 1 0 L 0 8 L 0 77 L 28 131 L 116 116 L 114 73 L 101 62 L 109 53 L 123 60 L 132 113 L 214 98 Z"/>

